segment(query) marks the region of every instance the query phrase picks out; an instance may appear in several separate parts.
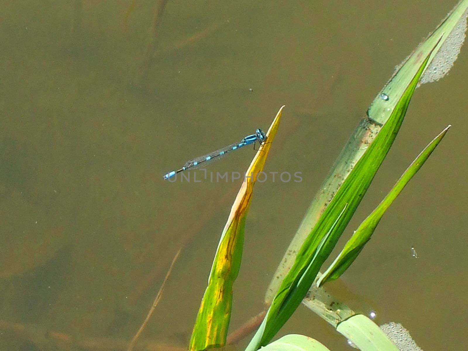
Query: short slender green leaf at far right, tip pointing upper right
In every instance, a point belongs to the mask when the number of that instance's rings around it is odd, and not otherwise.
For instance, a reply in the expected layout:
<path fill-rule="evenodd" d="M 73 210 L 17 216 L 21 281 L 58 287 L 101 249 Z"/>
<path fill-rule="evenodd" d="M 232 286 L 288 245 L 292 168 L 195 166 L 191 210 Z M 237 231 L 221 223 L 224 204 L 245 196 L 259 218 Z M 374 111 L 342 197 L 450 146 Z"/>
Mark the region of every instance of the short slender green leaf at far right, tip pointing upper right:
<path fill-rule="evenodd" d="M 424 150 L 417 158 L 409 165 L 408 169 L 403 173 L 395 186 L 390 190 L 388 195 L 382 200 L 377 208 L 361 223 L 358 229 L 351 236 L 351 239 L 344 246 L 343 251 L 336 257 L 335 261 L 323 273 L 317 281 L 318 286 L 322 286 L 328 281 L 335 280 L 343 274 L 344 271 L 353 263 L 359 252 L 364 248 L 366 242 L 370 240 L 375 228 L 380 222 L 380 219 L 392 204 L 395 198 L 400 194 L 403 188 L 408 184 L 409 180 L 422 167 L 424 162 L 432 154 L 432 151 L 439 145 L 439 142 L 444 138 L 450 125 L 446 127 Z"/>

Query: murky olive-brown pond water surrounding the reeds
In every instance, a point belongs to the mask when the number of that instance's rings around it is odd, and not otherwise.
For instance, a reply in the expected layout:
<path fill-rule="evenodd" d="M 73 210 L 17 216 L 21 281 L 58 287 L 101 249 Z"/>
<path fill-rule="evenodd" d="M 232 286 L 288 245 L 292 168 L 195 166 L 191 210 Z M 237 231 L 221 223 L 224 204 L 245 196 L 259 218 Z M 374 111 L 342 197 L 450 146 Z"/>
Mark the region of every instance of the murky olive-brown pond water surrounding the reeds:
<path fill-rule="evenodd" d="M 260 311 L 344 142 L 393 67 L 453 5 L 168 1 L 156 58 L 142 71 L 154 1 L 0 1 L 1 348 L 36 350 L 44 330 L 129 340 L 181 242 L 143 338 L 185 345 L 239 183 L 161 176 L 267 128 L 285 104 L 266 171 L 299 171 L 303 182 L 256 185 L 231 327 Z M 377 311 L 377 322 L 401 322 L 425 351 L 465 344 L 466 81 L 464 47 L 446 78 L 417 90 L 348 236 L 453 127 L 356 263 L 328 285 L 352 308 Z M 242 171 L 252 155 L 246 147 L 210 170 Z M 39 329 L 15 338 L 13 323 Z M 347 347 L 303 307 L 281 332 Z"/>

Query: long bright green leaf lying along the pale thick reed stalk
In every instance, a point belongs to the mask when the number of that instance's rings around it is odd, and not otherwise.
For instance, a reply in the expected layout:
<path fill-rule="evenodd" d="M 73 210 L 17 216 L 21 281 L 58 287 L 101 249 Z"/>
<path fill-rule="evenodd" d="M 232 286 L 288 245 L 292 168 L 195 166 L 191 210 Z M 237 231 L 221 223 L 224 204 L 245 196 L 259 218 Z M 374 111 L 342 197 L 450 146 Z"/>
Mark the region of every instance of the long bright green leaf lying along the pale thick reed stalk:
<path fill-rule="evenodd" d="M 419 71 L 413 76 L 400 101 L 396 104 L 388 122 L 381 128 L 377 137 L 368 146 L 366 152 L 352 169 L 300 247 L 291 269 L 281 282 L 278 292 L 267 312 L 264 330 L 259 329 L 257 331 L 256 336 L 254 336 L 255 341 L 254 339 L 251 341 L 247 348 L 248 351 L 254 351 L 260 346 L 268 344 L 306 295 L 321 265 L 343 233 L 380 164 L 387 155 L 390 146 L 393 144 L 408 109 L 411 96 L 430 54 L 421 62 Z M 347 209 L 343 212 L 345 206 L 347 206 Z M 343 216 L 343 218 L 340 218 L 340 216 Z M 325 236 L 327 238 L 323 244 L 323 248 L 317 250 Z M 307 276 L 304 275 L 305 271 L 307 271 Z M 300 284 L 298 284 L 298 281 Z M 261 336 L 259 336 L 260 333 Z"/>

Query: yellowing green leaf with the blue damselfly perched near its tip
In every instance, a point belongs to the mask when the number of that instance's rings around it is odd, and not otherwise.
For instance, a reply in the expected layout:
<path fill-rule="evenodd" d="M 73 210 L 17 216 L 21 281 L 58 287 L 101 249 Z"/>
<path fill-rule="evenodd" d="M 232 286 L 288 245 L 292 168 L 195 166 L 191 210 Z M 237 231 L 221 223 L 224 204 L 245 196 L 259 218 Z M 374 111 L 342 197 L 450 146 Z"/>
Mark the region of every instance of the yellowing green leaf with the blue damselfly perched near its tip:
<path fill-rule="evenodd" d="M 284 106 L 283 106 L 284 107 Z M 278 130 L 283 107 L 278 111 L 266 133 L 266 143 L 260 146 L 234 200 L 231 212 L 219 240 L 213 261 L 208 287 L 197 314 L 190 338 L 189 350 L 206 350 L 226 343 L 227 328 L 231 317 L 232 289 L 241 265 L 244 225 L 256 175 L 262 171 L 266 157 Z"/>

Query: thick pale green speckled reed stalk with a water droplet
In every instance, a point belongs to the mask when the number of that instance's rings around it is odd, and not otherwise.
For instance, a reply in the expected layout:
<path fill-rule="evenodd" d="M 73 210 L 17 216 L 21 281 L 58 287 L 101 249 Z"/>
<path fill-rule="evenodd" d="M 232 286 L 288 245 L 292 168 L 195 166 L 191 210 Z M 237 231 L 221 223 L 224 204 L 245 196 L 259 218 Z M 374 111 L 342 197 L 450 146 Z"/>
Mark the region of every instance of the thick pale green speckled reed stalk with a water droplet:
<path fill-rule="evenodd" d="M 328 176 L 315 194 L 307 212 L 302 220 L 294 238 L 286 249 L 283 259 L 280 261 L 273 279 L 265 293 L 265 303 L 271 304 L 282 279 L 294 263 L 296 253 L 310 233 L 311 228 L 317 222 L 329 205 L 331 199 L 336 196 L 338 190 L 349 177 L 351 170 L 363 157 L 367 147 L 379 134 L 382 125 L 385 125 L 394 112 L 396 103 L 401 100 L 409 82 L 418 72 L 422 61 L 430 53 L 428 65 L 424 70 L 426 75 L 437 70 L 448 71 L 447 65 L 441 66 L 440 62 L 448 62 L 451 66 L 458 54 L 459 47 L 464 39 L 466 29 L 468 0 L 462 0 L 446 17 L 446 19 L 434 30 L 434 32 L 417 49 L 409 55 L 402 66 L 382 88 L 369 107 L 366 116 L 361 120 L 350 139 L 339 154 Z M 450 50 L 455 45 L 458 49 Z M 448 56 L 448 59 L 447 59 Z M 442 58 L 442 59 L 440 59 Z M 438 64 L 439 62 L 439 64 Z M 429 80 L 428 80 L 429 81 Z"/>

